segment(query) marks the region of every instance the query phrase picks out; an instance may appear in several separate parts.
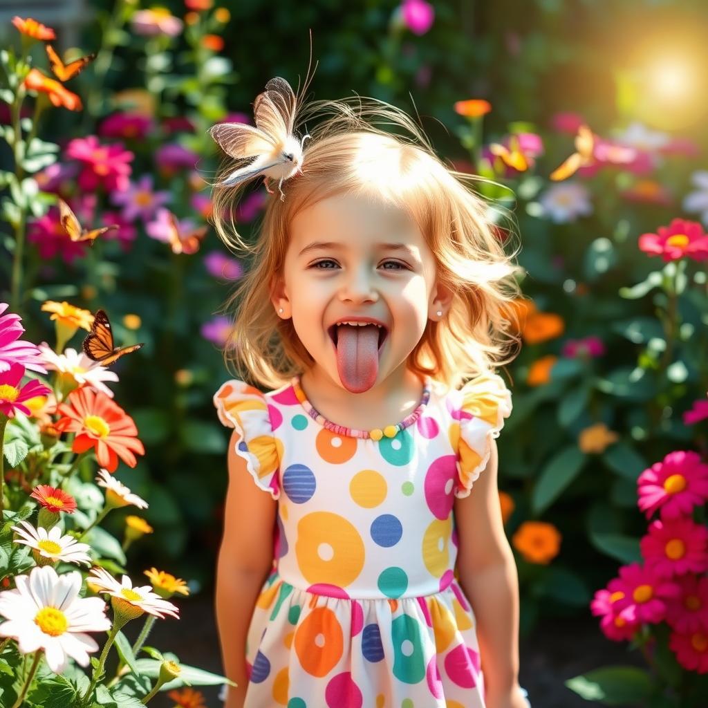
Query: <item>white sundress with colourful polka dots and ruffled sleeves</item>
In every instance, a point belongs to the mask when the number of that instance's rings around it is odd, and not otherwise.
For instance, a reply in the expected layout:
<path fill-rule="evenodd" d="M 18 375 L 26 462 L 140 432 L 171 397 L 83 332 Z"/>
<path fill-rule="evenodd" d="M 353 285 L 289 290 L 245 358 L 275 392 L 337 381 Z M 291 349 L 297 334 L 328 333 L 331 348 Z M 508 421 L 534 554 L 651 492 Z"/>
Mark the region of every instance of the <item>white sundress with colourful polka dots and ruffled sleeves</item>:
<path fill-rule="evenodd" d="M 484 708 L 474 612 L 455 577 L 455 497 L 491 454 L 511 394 L 484 373 L 427 378 L 396 426 L 326 421 L 299 378 L 214 396 L 278 500 L 273 571 L 249 627 L 246 708 Z"/>

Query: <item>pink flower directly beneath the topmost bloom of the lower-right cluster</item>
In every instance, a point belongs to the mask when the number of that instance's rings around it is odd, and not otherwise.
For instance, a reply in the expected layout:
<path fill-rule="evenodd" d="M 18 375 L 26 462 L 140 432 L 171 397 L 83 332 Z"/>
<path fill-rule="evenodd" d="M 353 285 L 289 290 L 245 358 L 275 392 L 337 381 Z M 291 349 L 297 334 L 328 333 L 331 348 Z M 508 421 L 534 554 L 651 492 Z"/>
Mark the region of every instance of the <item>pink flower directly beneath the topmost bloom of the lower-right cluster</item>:
<path fill-rule="evenodd" d="M 646 567 L 662 578 L 708 569 L 708 529 L 690 518 L 653 521 L 639 546 Z"/>

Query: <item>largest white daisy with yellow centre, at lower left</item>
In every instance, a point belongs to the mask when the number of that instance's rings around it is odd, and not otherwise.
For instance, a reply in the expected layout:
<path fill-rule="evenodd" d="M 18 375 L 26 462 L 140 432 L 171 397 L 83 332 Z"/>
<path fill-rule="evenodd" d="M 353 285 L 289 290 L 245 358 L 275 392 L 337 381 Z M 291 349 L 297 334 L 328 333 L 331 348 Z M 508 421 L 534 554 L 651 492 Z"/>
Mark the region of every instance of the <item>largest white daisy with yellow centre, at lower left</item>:
<path fill-rule="evenodd" d="M 98 644 L 86 632 L 105 632 L 110 619 L 101 598 L 79 598 L 81 573 L 57 575 L 52 566 L 37 566 L 15 578 L 16 589 L 0 593 L 0 636 L 17 640 L 21 653 L 44 649 L 49 668 L 62 673 L 69 656 L 88 666 Z"/>

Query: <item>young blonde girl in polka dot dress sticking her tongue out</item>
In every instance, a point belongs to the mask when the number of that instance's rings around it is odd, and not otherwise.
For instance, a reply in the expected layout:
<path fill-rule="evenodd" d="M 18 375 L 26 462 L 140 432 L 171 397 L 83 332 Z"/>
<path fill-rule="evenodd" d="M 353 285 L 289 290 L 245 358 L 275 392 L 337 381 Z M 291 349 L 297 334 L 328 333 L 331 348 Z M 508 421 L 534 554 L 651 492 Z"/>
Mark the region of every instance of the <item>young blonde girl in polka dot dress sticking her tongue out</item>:
<path fill-rule="evenodd" d="M 493 372 L 521 269 L 406 114 L 300 117 L 320 122 L 265 208 L 229 302 L 241 378 L 214 396 L 226 706 L 525 708 Z M 220 216 L 238 189 L 215 189 L 215 225 L 248 248 Z"/>

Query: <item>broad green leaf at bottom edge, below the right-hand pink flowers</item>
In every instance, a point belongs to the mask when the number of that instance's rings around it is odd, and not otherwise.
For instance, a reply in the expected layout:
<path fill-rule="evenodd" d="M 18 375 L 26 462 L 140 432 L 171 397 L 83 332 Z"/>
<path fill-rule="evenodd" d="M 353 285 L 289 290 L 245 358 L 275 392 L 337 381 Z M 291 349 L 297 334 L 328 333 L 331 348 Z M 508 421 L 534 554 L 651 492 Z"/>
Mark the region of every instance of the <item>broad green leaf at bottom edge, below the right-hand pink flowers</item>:
<path fill-rule="evenodd" d="M 565 683 L 585 700 L 608 706 L 644 704 L 654 690 L 649 674 L 636 666 L 604 666 Z"/>

